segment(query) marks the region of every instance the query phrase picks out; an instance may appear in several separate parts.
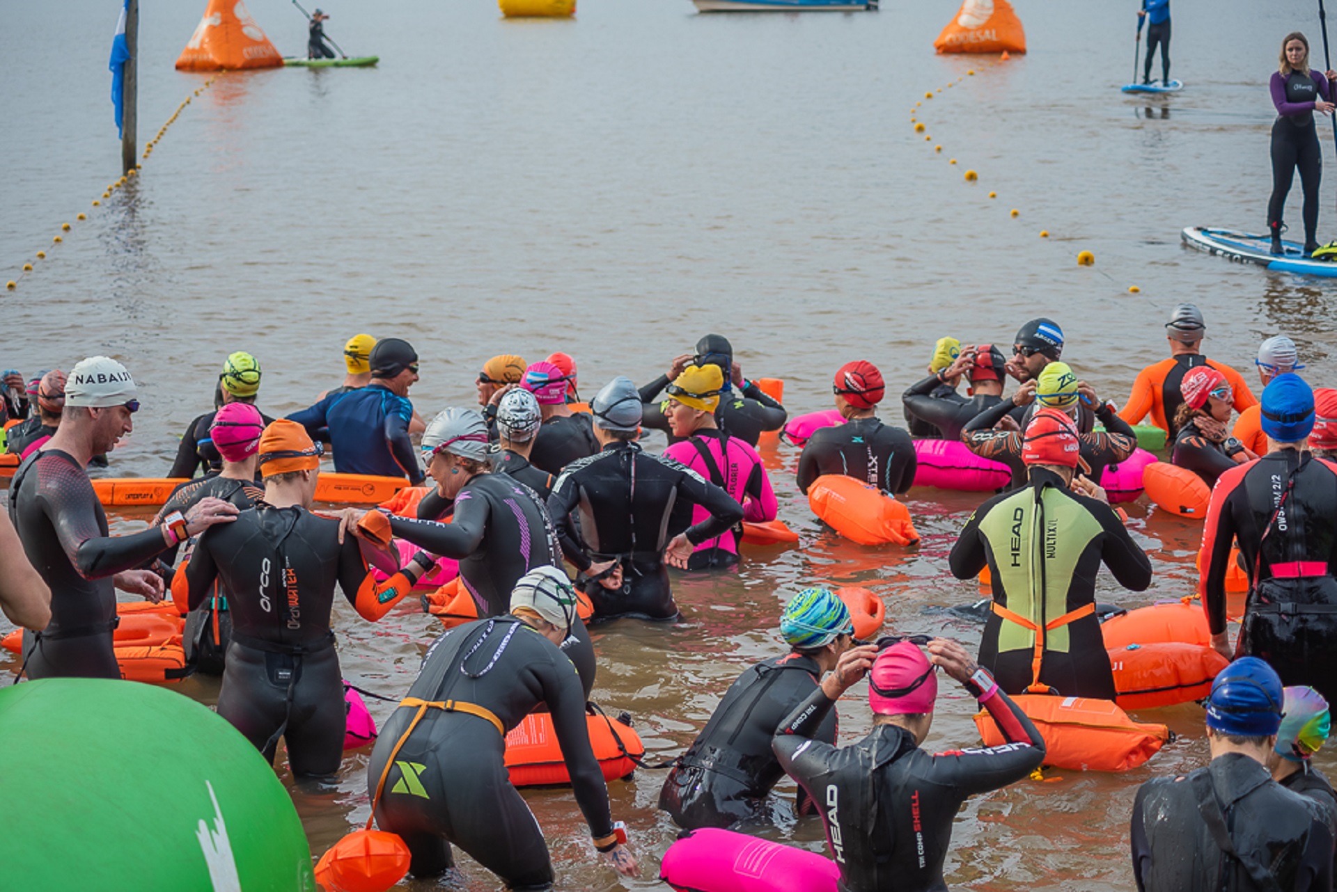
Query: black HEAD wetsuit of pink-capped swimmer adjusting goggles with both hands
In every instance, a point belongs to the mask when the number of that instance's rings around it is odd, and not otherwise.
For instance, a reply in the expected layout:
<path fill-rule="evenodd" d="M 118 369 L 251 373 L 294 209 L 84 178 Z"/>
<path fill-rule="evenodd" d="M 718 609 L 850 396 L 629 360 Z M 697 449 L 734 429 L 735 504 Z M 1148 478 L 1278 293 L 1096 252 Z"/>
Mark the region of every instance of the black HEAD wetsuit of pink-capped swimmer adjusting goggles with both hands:
<path fill-rule="evenodd" d="M 1008 742 L 937 754 L 889 724 L 849 746 L 812 740 L 833 705 L 814 690 L 785 718 L 774 749 L 822 816 L 841 892 L 945 891 L 943 861 L 961 803 L 1021 780 L 1044 758 L 1040 732 L 997 688 L 981 705 Z"/>

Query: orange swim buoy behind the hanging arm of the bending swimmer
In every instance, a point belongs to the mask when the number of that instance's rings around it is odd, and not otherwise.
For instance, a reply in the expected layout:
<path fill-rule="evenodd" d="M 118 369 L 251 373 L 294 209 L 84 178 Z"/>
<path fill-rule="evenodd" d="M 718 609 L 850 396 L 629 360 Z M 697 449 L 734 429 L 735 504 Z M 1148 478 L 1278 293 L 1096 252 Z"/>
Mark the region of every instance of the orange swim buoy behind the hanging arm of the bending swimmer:
<path fill-rule="evenodd" d="M 610 781 L 631 774 L 636 769 L 635 760 L 646 754 L 640 734 L 631 725 L 607 716 L 586 716 L 586 722 L 603 778 Z M 551 713 L 529 713 L 511 729 L 505 736 L 505 766 L 516 787 L 571 783 Z"/>

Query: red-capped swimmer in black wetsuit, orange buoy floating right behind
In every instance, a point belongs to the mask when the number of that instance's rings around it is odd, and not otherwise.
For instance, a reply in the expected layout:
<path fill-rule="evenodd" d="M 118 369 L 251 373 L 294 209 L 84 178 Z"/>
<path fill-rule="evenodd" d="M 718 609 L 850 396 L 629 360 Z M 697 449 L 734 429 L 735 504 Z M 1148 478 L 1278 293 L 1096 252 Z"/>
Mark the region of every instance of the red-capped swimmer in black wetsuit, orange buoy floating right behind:
<path fill-rule="evenodd" d="M 822 474 L 844 474 L 885 493 L 905 493 L 915 483 L 915 443 L 900 427 L 884 425 L 874 406 L 886 393 L 882 373 L 862 359 L 836 371 L 836 410 L 845 418 L 837 427 L 813 433 L 798 457 L 798 491 L 806 493 Z"/>

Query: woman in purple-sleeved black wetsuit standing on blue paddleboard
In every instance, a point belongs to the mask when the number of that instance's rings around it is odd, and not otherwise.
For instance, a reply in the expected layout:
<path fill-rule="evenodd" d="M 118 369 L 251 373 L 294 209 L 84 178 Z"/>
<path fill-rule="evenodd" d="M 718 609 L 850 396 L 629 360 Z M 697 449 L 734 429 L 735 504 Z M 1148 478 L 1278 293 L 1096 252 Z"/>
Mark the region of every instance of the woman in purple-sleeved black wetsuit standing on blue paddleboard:
<path fill-rule="evenodd" d="M 1271 199 L 1267 202 L 1267 231 L 1271 234 L 1271 252 L 1286 252 L 1281 244 L 1285 228 L 1282 212 L 1290 183 L 1300 168 L 1300 186 L 1305 192 L 1305 256 L 1318 247 L 1318 182 L 1324 174 L 1324 159 L 1318 150 L 1318 128 L 1314 112 L 1333 111 L 1332 81 L 1337 71 L 1326 71 L 1314 77 L 1309 71 L 1309 39 L 1298 31 L 1281 41 L 1281 68 L 1271 76 L 1271 101 L 1277 107 L 1277 120 L 1271 126 Z"/>

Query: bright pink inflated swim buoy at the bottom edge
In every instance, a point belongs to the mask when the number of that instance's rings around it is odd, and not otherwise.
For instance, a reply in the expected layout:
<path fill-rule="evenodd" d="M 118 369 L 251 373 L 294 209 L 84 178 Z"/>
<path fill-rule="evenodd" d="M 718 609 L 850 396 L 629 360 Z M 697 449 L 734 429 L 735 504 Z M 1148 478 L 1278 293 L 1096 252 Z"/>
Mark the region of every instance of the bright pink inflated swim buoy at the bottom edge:
<path fill-rule="evenodd" d="M 836 892 L 840 868 L 816 852 L 706 827 L 668 847 L 659 879 L 678 892 Z"/>

